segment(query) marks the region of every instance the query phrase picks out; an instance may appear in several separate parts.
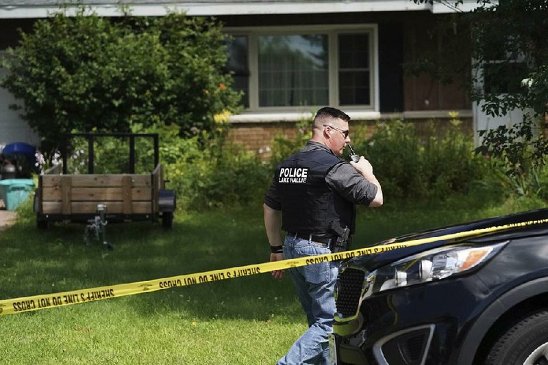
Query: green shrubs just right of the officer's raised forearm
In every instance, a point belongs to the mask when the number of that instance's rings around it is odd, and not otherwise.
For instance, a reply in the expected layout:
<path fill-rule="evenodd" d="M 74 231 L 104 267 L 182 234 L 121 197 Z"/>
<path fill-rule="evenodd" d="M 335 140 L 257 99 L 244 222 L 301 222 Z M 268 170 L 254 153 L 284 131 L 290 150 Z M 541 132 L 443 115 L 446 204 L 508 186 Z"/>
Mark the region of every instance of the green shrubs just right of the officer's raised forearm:
<path fill-rule="evenodd" d="M 484 176 L 485 163 L 472 153 L 472 137 L 459 125 L 453 119 L 440 133 L 430 124 L 419 135 L 412 123 L 381 122 L 371 139 L 356 141 L 354 149 L 371 161 L 386 198 L 443 198 L 466 192 Z"/>

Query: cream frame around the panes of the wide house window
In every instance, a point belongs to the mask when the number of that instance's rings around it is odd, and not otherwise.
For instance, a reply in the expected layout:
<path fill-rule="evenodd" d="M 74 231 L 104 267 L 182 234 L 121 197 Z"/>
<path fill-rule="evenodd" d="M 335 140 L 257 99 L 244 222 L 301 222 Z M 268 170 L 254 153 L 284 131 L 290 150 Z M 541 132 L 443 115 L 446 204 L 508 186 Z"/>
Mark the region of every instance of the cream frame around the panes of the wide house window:
<path fill-rule="evenodd" d="M 258 77 L 258 38 L 260 36 L 278 36 L 295 34 L 326 34 L 328 47 L 328 87 L 329 87 L 329 106 L 338 107 L 352 111 L 379 111 L 379 65 L 378 65 L 378 27 L 376 24 L 347 24 L 347 25 L 298 25 L 283 26 L 275 25 L 268 27 L 226 27 L 225 33 L 230 36 L 248 37 L 248 62 L 249 62 L 249 80 L 248 95 L 249 107 L 245 112 L 297 112 L 311 111 L 324 107 L 325 105 L 305 105 L 293 107 L 260 107 L 259 106 L 259 77 Z M 370 105 L 340 105 L 339 104 L 339 44 L 338 36 L 340 34 L 369 33 L 369 87 L 370 87 Z"/>

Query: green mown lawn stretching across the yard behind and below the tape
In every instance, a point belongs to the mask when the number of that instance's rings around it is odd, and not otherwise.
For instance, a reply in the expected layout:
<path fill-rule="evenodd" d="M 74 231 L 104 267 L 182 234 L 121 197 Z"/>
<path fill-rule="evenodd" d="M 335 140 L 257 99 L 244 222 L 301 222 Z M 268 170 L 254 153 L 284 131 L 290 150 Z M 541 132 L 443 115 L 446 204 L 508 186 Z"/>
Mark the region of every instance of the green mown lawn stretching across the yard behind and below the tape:
<path fill-rule="evenodd" d="M 480 197 L 480 198 L 479 198 Z M 353 248 L 391 236 L 543 206 L 487 194 L 360 209 Z M 262 206 L 177 212 L 173 230 L 109 225 L 115 245 L 86 247 L 84 226 L 38 231 L 29 205 L 0 233 L 0 299 L 91 288 L 268 260 Z M 306 330 L 289 278 L 253 275 L 0 317 L 3 364 L 273 364 Z"/>

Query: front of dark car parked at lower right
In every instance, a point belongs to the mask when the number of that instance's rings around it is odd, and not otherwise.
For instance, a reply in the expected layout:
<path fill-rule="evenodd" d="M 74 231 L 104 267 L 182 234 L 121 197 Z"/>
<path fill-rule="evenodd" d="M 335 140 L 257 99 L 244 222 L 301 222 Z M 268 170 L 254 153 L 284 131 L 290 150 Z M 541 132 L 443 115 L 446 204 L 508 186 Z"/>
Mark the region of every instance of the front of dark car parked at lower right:
<path fill-rule="evenodd" d="M 548 209 L 483 219 L 386 243 L 469 236 L 344 260 L 331 362 L 548 364 L 547 222 Z"/>

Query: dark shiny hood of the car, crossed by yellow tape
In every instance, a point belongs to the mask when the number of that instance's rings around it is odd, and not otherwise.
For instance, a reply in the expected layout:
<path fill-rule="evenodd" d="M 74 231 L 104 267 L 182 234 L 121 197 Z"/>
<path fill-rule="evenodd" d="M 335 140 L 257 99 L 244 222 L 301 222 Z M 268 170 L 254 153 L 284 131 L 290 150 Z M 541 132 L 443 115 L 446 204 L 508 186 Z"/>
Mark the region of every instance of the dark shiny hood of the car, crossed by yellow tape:
<path fill-rule="evenodd" d="M 543 221 L 547 220 L 547 221 Z M 542 221 L 541 223 L 532 224 L 534 221 Z M 520 223 L 527 223 L 523 225 L 517 225 Z M 411 247 L 403 247 L 393 249 L 391 251 L 380 252 L 378 254 L 371 254 L 365 256 L 358 256 L 355 258 L 349 258 L 341 262 L 342 267 L 362 267 L 367 271 L 373 271 L 378 267 L 387 265 L 390 262 L 397 261 L 401 258 L 405 258 L 419 252 L 426 251 L 435 247 L 441 247 L 445 245 L 454 245 L 458 243 L 486 243 L 486 242 L 502 242 L 511 241 L 516 237 L 523 236 L 537 236 L 541 234 L 548 234 L 548 208 L 538 209 L 535 211 L 527 211 L 522 213 L 512 213 L 509 215 L 501 215 L 499 217 L 492 217 L 487 219 L 479 219 L 477 221 L 469 221 L 460 224 L 453 224 L 451 226 L 445 226 L 441 228 L 434 228 L 431 230 L 424 230 L 412 234 L 406 234 L 386 241 L 381 241 L 373 244 L 372 246 L 388 245 L 391 243 L 404 243 L 408 241 L 414 241 L 418 239 L 429 239 L 432 237 L 441 237 L 447 234 L 456 234 L 460 232 L 469 232 L 473 230 L 481 230 L 484 228 L 501 227 L 516 224 L 515 227 L 508 229 L 495 230 L 493 232 L 471 232 L 473 234 L 460 238 L 453 239 L 439 239 L 430 243 L 424 243 L 421 245 L 415 245 Z M 366 248 L 366 247 L 365 247 Z"/>

